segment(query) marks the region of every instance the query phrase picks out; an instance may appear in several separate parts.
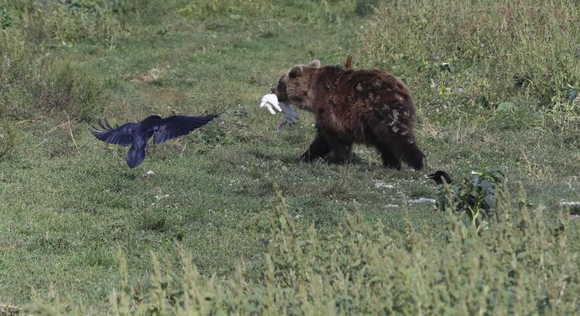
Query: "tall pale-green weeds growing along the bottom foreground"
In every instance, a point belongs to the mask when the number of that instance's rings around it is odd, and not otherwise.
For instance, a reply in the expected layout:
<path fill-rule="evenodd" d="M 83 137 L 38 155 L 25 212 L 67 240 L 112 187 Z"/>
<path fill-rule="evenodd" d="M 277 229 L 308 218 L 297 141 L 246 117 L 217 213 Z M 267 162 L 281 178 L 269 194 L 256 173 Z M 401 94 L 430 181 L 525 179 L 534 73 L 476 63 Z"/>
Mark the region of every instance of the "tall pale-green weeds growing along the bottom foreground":
<path fill-rule="evenodd" d="M 153 254 L 148 296 L 131 287 L 120 257 L 121 287 L 110 295 L 112 315 L 573 315 L 579 311 L 578 230 L 567 212 L 557 219 L 517 206 L 500 193 L 503 213 L 477 236 L 451 209 L 442 244 L 417 230 L 404 206 L 406 230 L 392 233 L 356 213 L 340 230 L 320 235 L 297 228 L 281 192 L 270 214 L 270 239 L 259 282 L 243 264 L 233 276 L 200 275 L 176 245 L 179 268 Z M 548 217 L 549 216 L 549 217 Z M 551 218 L 550 218 L 551 217 Z M 43 311 L 42 306 L 39 311 Z M 59 309 L 60 308 L 60 309 Z M 34 307 L 32 308 L 34 310 Z M 62 305 L 55 310 L 63 312 Z M 67 310 L 83 314 L 82 306 Z"/>

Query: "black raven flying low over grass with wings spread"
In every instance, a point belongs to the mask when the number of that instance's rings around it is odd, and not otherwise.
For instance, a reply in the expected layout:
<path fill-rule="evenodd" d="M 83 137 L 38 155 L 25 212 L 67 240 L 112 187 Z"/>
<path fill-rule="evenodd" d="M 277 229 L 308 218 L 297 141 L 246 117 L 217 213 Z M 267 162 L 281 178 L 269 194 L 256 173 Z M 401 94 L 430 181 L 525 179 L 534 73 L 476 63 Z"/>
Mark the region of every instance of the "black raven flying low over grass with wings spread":
<path fill-rule="evenodd" d="M 165 140 L 187 135 L 194 129 L 213 121 L 219 117 L 219 113 L 208 114 L 202 117 L 188 117 L 184 115 L 172 115 L 162 119 L 157 115 L 152 115 L 138 123 L 125 123 L 118 127 L 111 127 L 105 119 L 105 124 L 98 121 L 103 130 L 91 129 L 91 133 L 105 143 L 129 146 L 127 154 L 127 164 L 133 169 L 145 159 L 145 146 L 151 136 L 156 144 Z"/>

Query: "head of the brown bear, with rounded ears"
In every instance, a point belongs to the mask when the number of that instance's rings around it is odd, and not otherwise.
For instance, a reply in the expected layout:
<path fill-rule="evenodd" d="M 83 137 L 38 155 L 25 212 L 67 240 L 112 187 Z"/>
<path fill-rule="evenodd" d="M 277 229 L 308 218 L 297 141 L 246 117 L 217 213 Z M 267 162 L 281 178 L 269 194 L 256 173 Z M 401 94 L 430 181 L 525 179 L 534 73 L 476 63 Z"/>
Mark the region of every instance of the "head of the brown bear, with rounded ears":
<path fill-rule="evenodd" d="M 314 112 L 312 100 L 313 74 L 320 68 L 320 60 L 313 60 L 308 65 L 295 65 L 280 77 L 277 86 L 271 88 L 272 93 L 281 103 L 295 105 L 302 110 Z"/>

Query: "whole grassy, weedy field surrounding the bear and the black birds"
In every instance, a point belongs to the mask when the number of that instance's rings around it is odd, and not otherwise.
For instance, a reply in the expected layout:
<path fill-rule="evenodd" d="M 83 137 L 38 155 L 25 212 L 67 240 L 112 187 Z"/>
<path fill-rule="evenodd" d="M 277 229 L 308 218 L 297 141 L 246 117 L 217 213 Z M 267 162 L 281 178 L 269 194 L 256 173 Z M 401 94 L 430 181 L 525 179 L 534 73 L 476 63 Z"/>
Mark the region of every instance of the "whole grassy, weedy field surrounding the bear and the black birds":
<path fill-rule="evenodd" d="M 580 200 L 579 4 L 412 2 L 0 0 L 0 304 L 37 315 L 580 312 L 567 213 L 579 210 L 558 206 Z M 292 65 L 349 54 L 410 88 L 426 171 L 382 169 L 362 146 L 360 163 L 300 164 L 313 117 L 276 132 L 281 115 L 259 108 Z M 200 131 L 150 144 L 136 169 L 126 147 L 89 131 L 101 118 L 216 108 Z M 482 236 L 434 204 L 407 208 L 436 197 L 427 173 L 460 182 L 479 167 L 505 173 L 513 214 Z"/>

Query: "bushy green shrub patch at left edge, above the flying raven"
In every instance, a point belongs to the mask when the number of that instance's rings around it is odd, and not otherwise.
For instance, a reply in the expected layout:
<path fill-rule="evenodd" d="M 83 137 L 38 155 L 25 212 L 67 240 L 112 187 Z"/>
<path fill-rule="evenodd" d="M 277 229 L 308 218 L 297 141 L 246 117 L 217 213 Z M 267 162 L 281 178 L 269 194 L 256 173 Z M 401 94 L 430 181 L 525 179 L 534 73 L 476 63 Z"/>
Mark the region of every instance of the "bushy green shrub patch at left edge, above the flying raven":
<path fill-rule="evenodd" d="M 0 65 L 0 110 L 11 117 L 66 113 L 90 120 L 101 114 L 108 91 L 92 70 L 62 60 L 7 58 Z M 31 60 L 32 59 L 32 60 Z"/>

